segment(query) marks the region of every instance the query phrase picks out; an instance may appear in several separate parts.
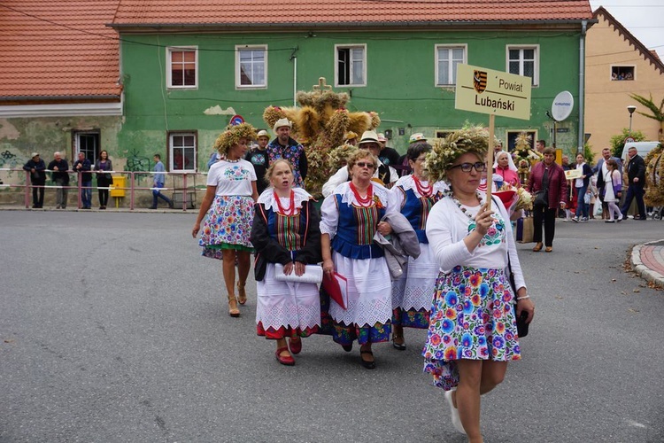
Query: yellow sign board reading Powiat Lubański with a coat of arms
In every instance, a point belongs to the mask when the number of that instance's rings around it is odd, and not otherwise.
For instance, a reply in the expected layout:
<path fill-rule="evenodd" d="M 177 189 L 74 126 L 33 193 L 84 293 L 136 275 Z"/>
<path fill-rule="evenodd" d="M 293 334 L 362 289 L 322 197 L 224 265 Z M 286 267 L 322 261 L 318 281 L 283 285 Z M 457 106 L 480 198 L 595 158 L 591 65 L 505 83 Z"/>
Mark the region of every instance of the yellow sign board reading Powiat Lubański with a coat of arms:
<path fill-rule="evenodd" d="M 485 67 L 458 65 L 455 107 L 530 120 L 530 77 Z"/>

